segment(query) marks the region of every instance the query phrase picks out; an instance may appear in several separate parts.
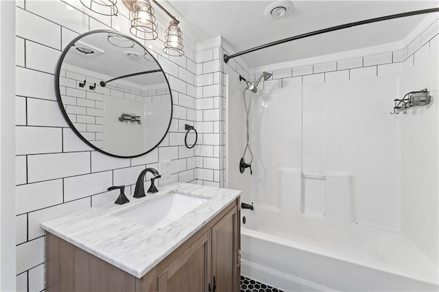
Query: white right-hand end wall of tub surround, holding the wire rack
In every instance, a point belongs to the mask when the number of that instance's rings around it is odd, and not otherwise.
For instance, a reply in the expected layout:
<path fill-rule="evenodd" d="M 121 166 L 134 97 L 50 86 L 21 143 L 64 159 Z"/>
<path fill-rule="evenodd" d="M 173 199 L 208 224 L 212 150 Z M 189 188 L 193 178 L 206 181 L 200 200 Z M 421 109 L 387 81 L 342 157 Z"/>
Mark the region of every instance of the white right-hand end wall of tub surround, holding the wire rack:
<path fill-rule="evenodd" d="M 438 36 L 429 43 L 429 56 L 407 62 L 401 97 L 428 88 L 431 105 L 410 108 L 396 117 L 401 145 L 401 191 L 403 232 L 438 265 Z"/>

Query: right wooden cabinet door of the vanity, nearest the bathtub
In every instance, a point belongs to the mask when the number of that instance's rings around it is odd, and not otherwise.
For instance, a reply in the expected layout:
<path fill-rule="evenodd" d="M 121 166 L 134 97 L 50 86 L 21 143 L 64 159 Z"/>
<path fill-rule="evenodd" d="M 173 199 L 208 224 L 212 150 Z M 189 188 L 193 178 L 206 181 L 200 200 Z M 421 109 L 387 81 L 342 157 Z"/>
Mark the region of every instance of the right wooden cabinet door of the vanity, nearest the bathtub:
<path fill-rule="evenodd" d="M 212 228 L 212 282 L 214 292 L 238 291 L 237 207 L 230 210 Z"/>

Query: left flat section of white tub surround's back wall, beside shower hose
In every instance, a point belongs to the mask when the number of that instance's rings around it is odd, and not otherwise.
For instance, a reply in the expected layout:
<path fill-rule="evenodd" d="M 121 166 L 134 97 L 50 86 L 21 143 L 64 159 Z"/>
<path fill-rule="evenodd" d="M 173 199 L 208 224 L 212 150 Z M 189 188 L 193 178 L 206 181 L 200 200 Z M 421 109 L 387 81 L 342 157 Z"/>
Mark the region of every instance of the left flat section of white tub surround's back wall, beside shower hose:
<path fill-rule="evenodd" d="M 250 180 L 255 204 L 280 208 L 284 194 L 280 192 L 278 169 L 301 167 L 301 103 L 300 87 L 253 95 L 250 146 L 254 162 Z"/>

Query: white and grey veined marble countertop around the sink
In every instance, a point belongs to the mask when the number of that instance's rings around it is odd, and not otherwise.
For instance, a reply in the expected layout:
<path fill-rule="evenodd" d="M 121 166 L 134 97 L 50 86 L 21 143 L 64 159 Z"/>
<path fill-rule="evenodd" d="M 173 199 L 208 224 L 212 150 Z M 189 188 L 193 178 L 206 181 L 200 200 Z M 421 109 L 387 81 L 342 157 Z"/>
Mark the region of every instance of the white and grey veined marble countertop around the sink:
<path fill-rule="evenodd" d="M 241 191 L 227 188 L 180 182 L 158 189 L 158 193 L 147 194 L 141 199 L 130 196 L 128 204 L 116 205 L 109 202 L 45 221 L 41 223 L 41 227 L 141 278 L 241 194 Z M 161 230 L 112 215 L 175 190 L 211 199 Z"/>

